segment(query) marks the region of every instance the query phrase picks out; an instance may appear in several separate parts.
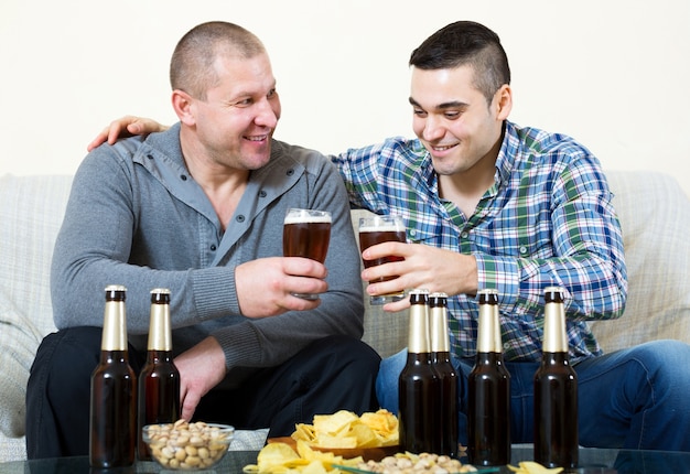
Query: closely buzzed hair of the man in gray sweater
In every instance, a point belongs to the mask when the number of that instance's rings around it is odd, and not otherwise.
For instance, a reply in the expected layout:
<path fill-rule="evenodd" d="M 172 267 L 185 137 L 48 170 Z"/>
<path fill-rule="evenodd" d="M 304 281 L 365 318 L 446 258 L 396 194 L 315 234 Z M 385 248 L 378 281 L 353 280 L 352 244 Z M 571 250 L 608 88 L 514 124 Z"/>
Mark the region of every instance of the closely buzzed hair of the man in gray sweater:
<path fill-rule="evenodd" d="M 170 61 L 170 84 L 204 100 L 218 76 L 214 63 L 218 56 L 255 57 L 266 53 L 261 41 L 250 31 L 224 21 L 211 21 L 190 30 L 177 42 Z"/>

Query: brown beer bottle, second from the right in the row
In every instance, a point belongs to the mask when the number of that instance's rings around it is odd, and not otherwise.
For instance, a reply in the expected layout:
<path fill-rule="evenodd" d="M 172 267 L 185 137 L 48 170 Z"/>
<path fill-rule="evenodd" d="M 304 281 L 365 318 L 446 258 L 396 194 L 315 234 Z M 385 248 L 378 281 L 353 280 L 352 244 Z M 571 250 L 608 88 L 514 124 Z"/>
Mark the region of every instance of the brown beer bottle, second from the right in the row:
<path fill-rule="evenodd" d="M 503 360 L 498 292 L 477 294 L 477 354 L 467 380 L 467 454 L 472 464 L 497 466 L 510 462 L 510 374 Z"/>

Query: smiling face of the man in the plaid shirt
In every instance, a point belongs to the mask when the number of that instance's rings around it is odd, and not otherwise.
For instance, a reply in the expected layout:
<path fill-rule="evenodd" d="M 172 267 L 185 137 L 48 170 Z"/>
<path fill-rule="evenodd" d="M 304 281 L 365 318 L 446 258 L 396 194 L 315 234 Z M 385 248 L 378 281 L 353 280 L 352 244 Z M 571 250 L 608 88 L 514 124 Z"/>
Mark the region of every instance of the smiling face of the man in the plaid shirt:
<path fill-rule="evenodd" d="M 455 68 L 412 68 L 410 104 L 412 128 L 440 175 L 494 174 L 503 132 L 510 110 L 510 88 L 500 87 L 490 104 L 474 86 L 470 65 Z"/>

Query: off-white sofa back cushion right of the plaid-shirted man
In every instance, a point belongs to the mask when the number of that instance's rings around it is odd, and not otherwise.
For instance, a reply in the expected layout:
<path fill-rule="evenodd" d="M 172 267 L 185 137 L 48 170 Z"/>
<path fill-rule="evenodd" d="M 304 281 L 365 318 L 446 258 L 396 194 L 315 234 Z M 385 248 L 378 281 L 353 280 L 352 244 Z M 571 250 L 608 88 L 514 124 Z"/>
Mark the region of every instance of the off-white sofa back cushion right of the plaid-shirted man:
<path fill-rule="evenodd" d="M 649 171 L 606 172 L 623 228 L 628 298 L 623 316 L 591 324 L 605 352 L 651 340 L 690 343 L 690 202 Z"/>

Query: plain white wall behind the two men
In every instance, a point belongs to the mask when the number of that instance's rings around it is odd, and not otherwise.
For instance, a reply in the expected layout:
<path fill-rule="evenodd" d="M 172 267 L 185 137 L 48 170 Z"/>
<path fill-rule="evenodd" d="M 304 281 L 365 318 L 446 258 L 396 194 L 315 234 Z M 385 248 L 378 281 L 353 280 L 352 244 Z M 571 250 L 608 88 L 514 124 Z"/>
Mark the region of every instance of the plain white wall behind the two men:
<path fill-rule="evenodd" d="M 170 55 L 208 20 L 265 42 L 277 138 L 338 152 L 411 136 L 410 52 L 461 19 L 502 37 L 514 121 L 573 136 L 605 169 L 673 174 L 690 194 L 687 0 L 2 0 L 0 174 L 73 173 L 125 114 L 174 121 Z"/>

